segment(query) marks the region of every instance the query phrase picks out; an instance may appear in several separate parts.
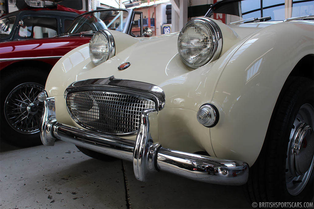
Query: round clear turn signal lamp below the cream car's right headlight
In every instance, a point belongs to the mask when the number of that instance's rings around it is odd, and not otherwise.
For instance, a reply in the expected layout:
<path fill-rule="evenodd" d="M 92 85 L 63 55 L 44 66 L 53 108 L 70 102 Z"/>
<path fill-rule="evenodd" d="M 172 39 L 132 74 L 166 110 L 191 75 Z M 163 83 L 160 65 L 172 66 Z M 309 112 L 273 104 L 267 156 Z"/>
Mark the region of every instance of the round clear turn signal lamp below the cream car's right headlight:
<path fill-rule="evenodd" d="M 203 126 L 213 127 L 218 123 L 218 109 L 212 104 L 203 104 L 197 112 L 197 120 Z"/>

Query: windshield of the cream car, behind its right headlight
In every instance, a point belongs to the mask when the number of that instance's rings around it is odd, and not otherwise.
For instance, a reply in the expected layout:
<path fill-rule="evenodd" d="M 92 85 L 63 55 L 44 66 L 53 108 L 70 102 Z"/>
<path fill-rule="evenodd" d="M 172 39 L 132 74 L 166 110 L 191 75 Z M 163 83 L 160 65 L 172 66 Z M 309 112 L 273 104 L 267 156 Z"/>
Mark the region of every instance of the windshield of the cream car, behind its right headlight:
<path fill-rule="evenodd" d="M 248 18 L 276 21 L 308 15 L 314 15 L 314 0 L 227 0 L 213 5 L 206 14 L 225 24 Z"/>

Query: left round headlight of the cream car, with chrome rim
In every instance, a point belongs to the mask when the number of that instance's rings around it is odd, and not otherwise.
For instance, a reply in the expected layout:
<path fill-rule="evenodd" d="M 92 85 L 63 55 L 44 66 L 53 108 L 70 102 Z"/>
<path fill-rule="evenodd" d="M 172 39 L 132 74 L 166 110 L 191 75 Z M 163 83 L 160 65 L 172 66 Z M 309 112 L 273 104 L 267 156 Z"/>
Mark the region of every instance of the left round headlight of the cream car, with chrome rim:
<path fill-rule="evenodd" d="M 89 41 L 89 56 L 99 65 L 115 55 L 115 41 L 108 30 L 99 30 Z"/>

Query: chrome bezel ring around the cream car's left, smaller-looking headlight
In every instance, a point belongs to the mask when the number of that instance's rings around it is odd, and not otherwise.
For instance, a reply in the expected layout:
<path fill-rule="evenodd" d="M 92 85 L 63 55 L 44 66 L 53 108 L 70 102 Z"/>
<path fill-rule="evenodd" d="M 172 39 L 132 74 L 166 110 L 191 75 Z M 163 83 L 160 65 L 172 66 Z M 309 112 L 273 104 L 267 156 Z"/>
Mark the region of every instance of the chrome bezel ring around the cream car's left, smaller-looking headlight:
<path fill-rule="evenodd" d="M 104 57 L 99 60 L 99 61 L 94 61 L 93 60 L 93 53 L 91 52 L 91 44 L 92 44 L 92 41 L 95 37 L 95 35 L 103 35 L 106 39 L 107 39 L 107 44 L 108 44 L 108 54 L 107 55 L 104 55 Z M 115 44 L 115 40 L 113 38 L 113 35 L 109 32 L 109 30 L 105 30 L 105 29 L 102 29 L 102 30 L 99 30 L 97 31 L 93 37 L 90 39 L 89 41 L 89 56 L 90 56 L 90 59 L 92 60 L 92 62 L 94 63 L 94 65 L 100 65 L 101 63 L 105 62 L 106 60 L 109 60 L 110 58 L 112 58 L 116 53 L 116 44 Z"/>

